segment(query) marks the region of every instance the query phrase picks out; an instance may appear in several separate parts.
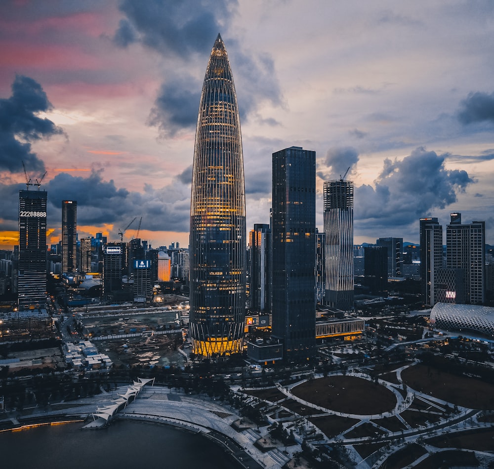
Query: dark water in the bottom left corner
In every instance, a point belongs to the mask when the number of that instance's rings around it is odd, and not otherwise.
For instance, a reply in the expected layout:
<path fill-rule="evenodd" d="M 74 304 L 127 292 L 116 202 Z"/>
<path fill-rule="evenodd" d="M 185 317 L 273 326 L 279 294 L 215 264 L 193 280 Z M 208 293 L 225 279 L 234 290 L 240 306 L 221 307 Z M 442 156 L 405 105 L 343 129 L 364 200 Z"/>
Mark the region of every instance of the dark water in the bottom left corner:
<path fill-rule="evenodd" d="M 0 433 L 2 469 L 240 468 L 222 448 L 176 427 L 115 421 L 100 430 L 83 423 Z"/>

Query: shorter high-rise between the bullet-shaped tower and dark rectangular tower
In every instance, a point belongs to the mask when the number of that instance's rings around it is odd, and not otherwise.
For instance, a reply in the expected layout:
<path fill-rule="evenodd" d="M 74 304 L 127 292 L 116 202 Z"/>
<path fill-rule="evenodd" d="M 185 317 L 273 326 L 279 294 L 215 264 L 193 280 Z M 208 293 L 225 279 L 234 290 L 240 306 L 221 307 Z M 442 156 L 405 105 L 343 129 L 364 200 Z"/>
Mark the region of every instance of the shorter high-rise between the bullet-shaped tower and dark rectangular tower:
<path fill-rule="evenodd" d="M 271 312 L 271 228 L 268 224 L 255 223 L 249 233 L 250 309 Z"/>

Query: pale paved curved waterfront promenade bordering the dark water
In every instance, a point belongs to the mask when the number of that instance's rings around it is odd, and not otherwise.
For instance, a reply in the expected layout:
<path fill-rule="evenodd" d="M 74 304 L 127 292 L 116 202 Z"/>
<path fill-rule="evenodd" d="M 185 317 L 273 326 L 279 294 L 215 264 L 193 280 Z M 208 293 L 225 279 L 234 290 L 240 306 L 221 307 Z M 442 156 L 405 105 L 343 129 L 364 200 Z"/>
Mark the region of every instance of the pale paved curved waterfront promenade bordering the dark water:
<path fill-rule="evenodd" d="M 34 407 L 25 409 L 23 414 L 30 419 L 47 420 L 61 415 L 67 418 L 80 416 L 85 418 L 96 412 L 97 407 L 111 405 L 119 394 L 125 392 L 128 386 L 119 386 L 111 392 L 97 396 L 78 399 L 66 403 L 53 404 L 45 409 Z M 232 424 L 241 417 L 236 409 L 224 406 L 205 395 L 188 395 L 183 391 L 161 386 L 144 386 L 137 398 L 122 409 L 116 419 L 140 420 L 153 423 L 163 423 L 201 432 L 205 437 L 220 445 L 230 453 L 244 468 L 275 469 L 284 466 L 294 451 L 300 446 L 274 448 L 267 452 L 260 451 L 254 446 L 255 441 L 267 436 L 267 427 L 257 429 L 256 426 L 237 431 Z M 0 414 L 0 420 L 10 420 L 19 424 L 15 413 Z M 111 422 L 110 428 L 111 431 Z M 84 430 L 84 431 L 98 431 Z"/>

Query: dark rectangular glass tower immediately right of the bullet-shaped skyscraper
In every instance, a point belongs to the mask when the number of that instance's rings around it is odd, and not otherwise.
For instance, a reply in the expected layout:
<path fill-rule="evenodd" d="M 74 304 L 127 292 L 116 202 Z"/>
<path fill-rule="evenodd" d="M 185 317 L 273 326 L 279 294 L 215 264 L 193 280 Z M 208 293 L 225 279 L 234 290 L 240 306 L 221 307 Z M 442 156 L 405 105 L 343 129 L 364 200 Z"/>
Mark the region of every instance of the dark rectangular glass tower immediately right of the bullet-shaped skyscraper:
<path fill-rule="evenodd" d="M 272 202 L 272 337 L 286 361 L 306 361 L 316 351 L 316 152 L 273 153 Z"/>

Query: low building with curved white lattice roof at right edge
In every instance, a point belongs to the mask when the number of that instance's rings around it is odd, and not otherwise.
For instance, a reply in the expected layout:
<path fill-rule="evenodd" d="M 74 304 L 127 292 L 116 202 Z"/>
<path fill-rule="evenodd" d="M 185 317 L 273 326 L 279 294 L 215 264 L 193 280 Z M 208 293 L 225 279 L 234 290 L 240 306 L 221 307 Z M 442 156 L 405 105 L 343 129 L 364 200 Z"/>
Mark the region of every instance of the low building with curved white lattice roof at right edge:
<path fill-rule="evenodd" d="M 439 329 L 469 330 L 494 336 L 494 308 L 476 304 L 436 303 L 431 310 L 431 323 Z"/>

